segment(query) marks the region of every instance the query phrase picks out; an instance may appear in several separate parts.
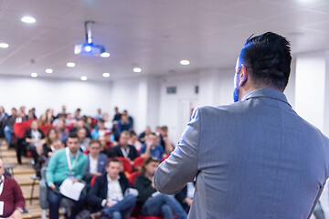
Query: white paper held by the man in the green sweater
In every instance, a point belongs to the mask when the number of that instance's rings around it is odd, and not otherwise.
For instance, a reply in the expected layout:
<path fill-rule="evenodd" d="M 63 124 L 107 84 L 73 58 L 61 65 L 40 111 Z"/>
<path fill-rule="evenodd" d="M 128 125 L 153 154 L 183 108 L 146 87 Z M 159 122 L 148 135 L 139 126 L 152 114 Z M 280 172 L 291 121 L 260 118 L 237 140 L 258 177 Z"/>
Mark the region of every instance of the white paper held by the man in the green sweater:
<path fill-rule="evenodd" d="M 59 186 L 59 192 L 70 199 L 78 201 L 84 186 L 83 183 L 73 183 L 72 180 L 68 178 Z"/>

